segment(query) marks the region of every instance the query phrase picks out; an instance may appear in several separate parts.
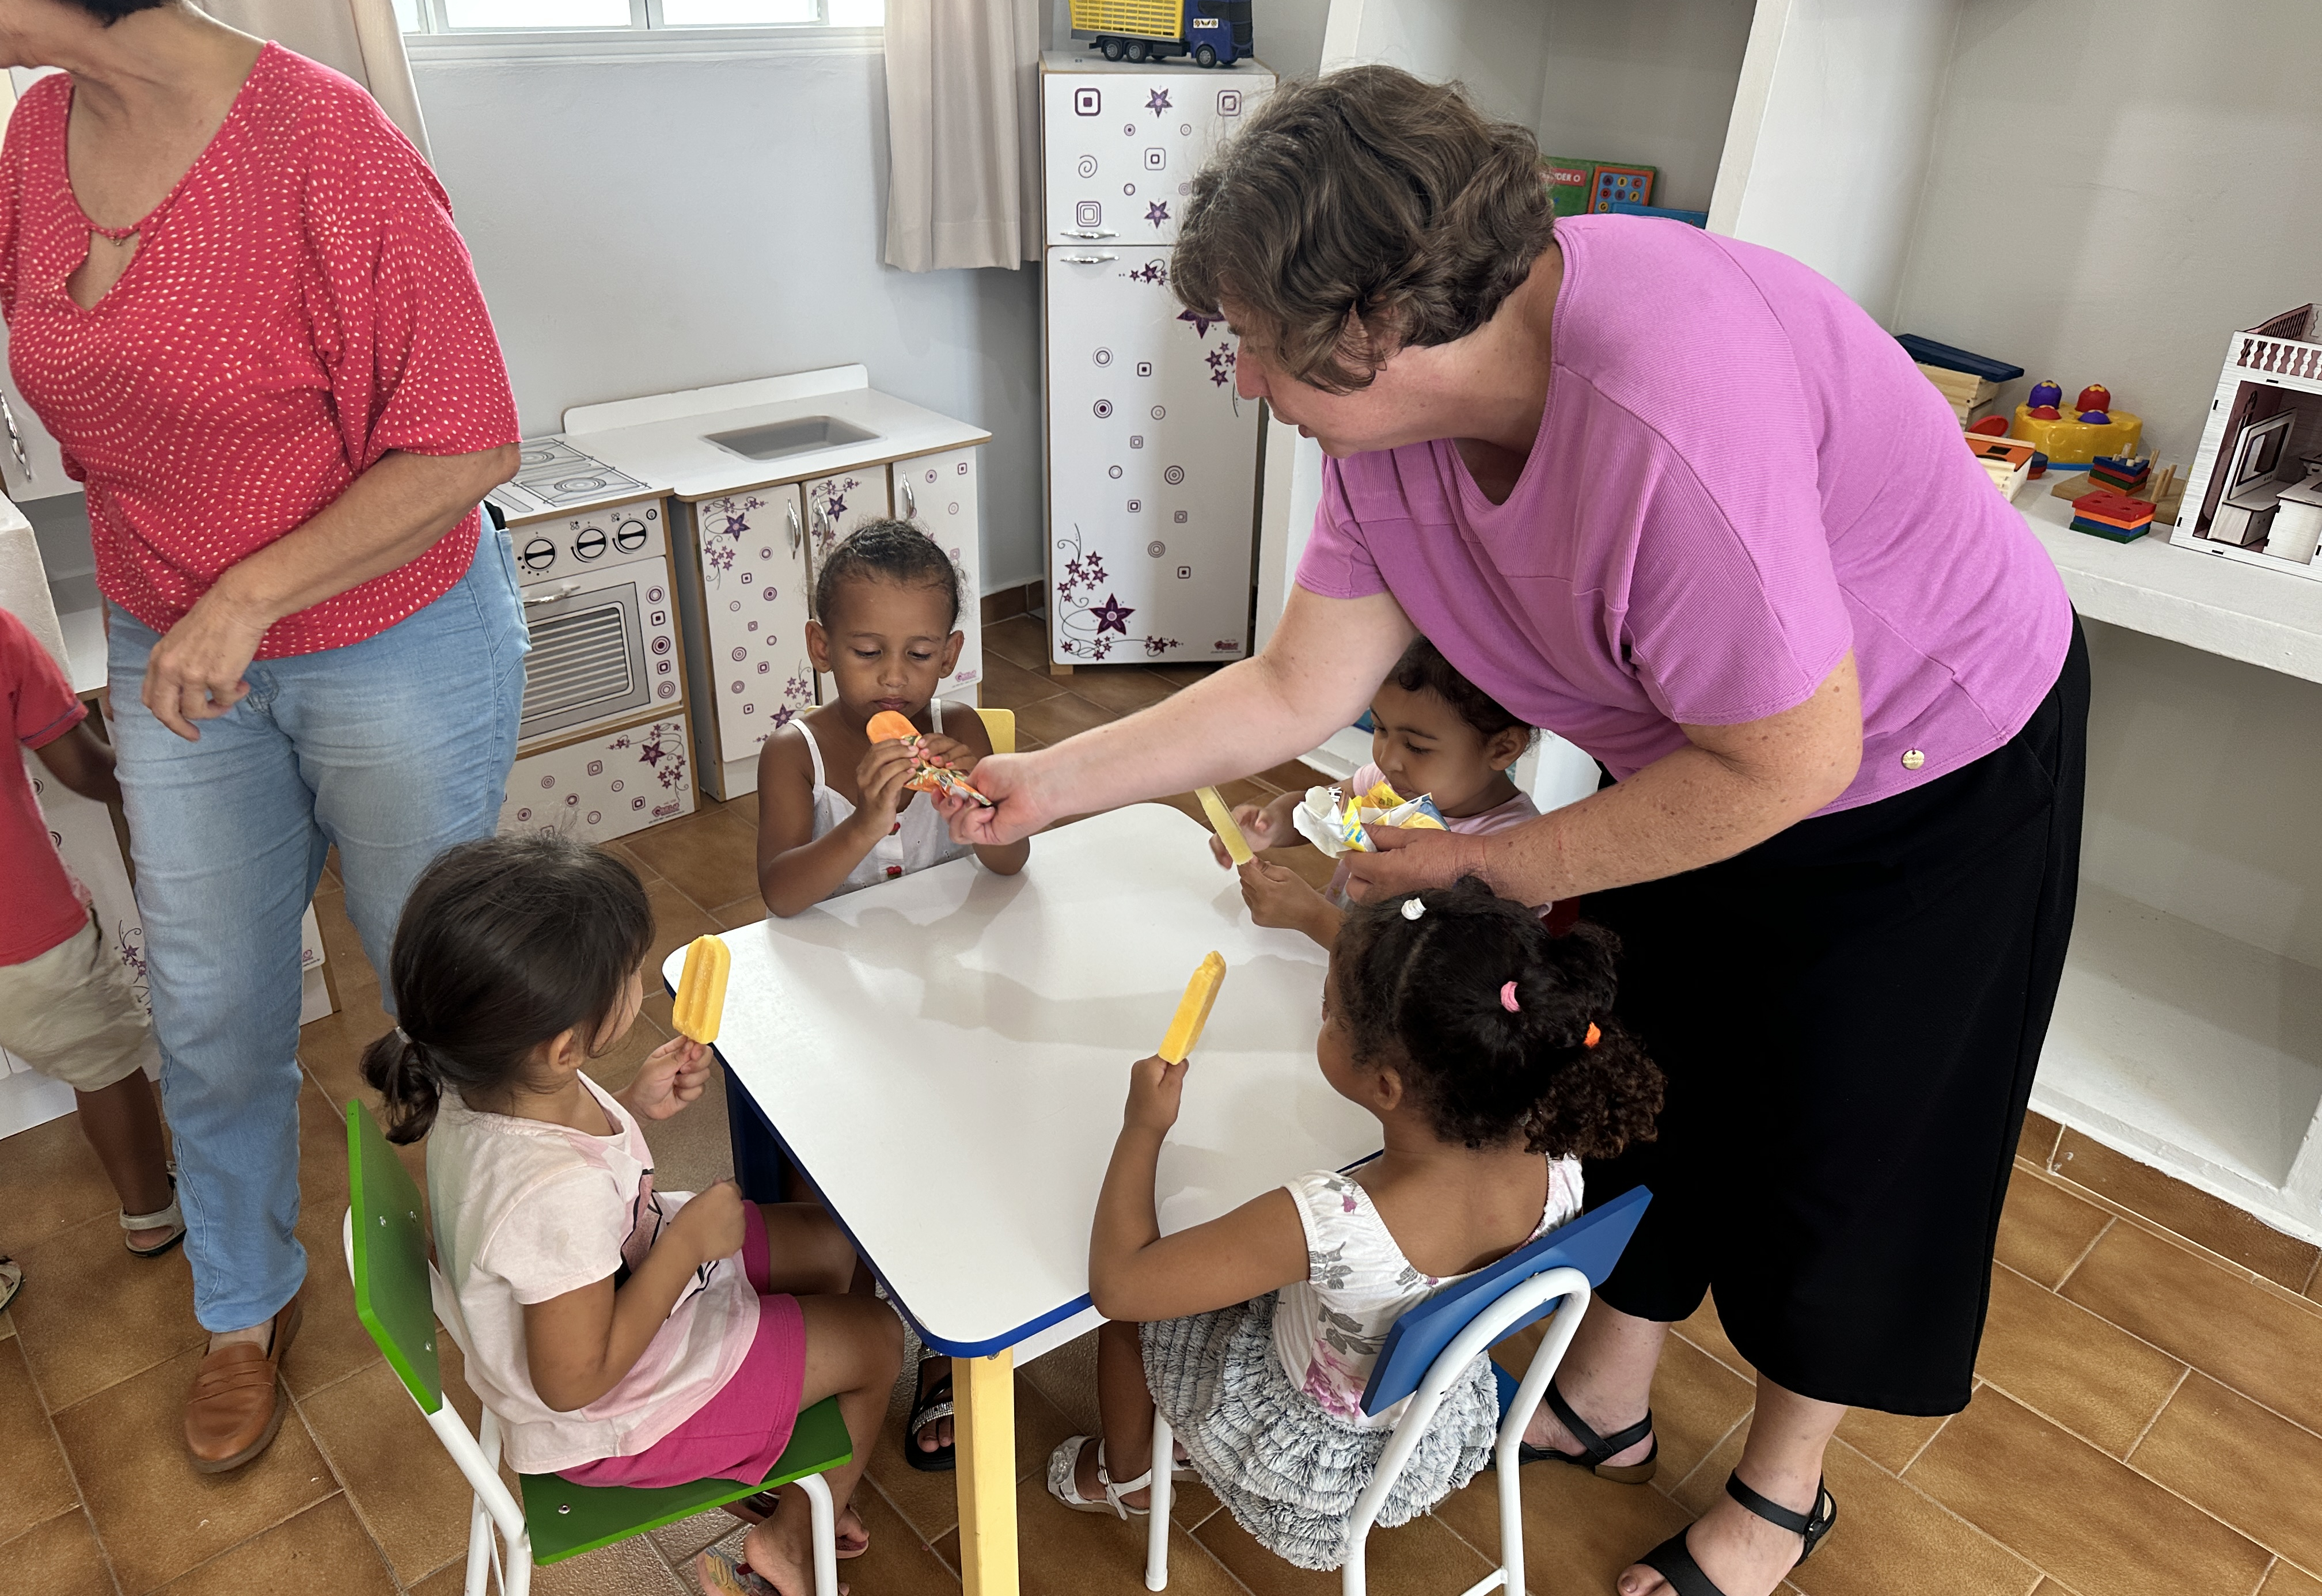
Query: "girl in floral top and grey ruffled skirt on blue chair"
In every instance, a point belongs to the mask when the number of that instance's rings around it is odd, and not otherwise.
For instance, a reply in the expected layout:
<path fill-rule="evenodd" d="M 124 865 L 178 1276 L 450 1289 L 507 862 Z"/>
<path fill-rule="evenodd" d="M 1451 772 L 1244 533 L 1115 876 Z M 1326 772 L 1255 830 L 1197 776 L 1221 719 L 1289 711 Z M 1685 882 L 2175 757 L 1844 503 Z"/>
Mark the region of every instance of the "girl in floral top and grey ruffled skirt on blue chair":
<path fill-rule="evenodd" d="M 1653 1137 L 1660 1069 L 1611 1016 L 1616 951 L 1593 926 L 1549 935 L 1477 879 L 1347 909 L 1314 1053 L 1324 1081 L 1377 1116 L 1386 1151 L 1173 1236 L 1154 1171 L 1189 1065 L 1138 1060 L 1089 1239 L 1089 1290 L 1110 1320 L 1105 1436 L 1057 1448 L 1057 1501 L 1140 1512 L 1149 1475 L 1117 1480 L 1108 1459 L 1149 1457 L 1159 1403 L 1184 1464 L 1252 1536 L 1300 1568 L 1337 1568 L 1400 1415 L 1361 1408 L 1386 1332 L 1577 1216 L 1581 1158 Z M 1377 1522 L 1465 1485 L 1498 1422 L 1491 1359 L 1477 1357 Z"/>

